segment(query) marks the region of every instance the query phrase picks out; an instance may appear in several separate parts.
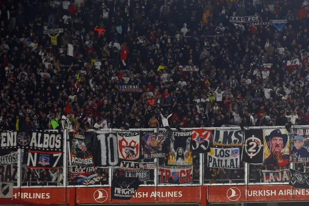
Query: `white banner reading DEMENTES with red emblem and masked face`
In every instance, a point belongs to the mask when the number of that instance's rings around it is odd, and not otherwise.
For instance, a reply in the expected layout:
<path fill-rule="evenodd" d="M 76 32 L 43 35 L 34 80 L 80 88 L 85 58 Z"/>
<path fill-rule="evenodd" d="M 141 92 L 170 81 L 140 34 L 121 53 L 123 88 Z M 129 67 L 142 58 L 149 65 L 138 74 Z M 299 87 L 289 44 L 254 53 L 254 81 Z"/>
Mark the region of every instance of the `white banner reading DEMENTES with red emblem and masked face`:
<path fill-rule="evenodd" d="M 119 158 L 139 158 L 139 132 L 117 132 Z"/>

